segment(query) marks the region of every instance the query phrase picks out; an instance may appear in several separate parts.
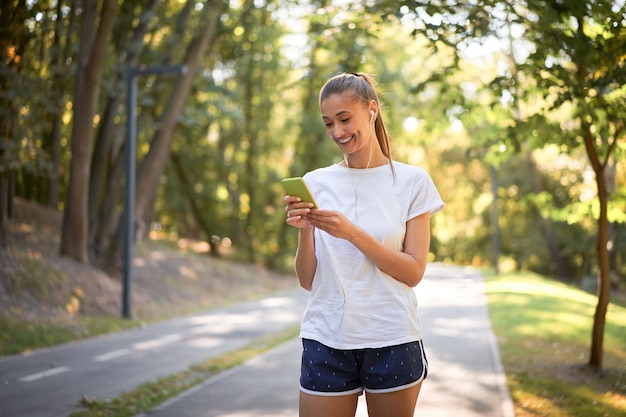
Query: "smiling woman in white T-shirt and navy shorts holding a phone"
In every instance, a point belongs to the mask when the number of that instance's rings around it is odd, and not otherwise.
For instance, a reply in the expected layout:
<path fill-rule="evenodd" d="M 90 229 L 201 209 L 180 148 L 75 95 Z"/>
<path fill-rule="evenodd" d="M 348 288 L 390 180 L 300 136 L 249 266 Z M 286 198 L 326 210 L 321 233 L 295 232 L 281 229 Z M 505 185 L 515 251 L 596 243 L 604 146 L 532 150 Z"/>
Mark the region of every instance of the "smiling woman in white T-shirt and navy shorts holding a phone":
<path fill-rule="evenodd" d="M 296 275 L 311 291 L 300 416 L 354 416 L 365 391 L 370 417 L 410 417 L 428 368 L 412 287 L 443 202 L 424 170 L 392 161 L 372 77 L 331 78 L 319 105 L 343 160 L 304 176 L 319 209 L 285 197 Z"/>

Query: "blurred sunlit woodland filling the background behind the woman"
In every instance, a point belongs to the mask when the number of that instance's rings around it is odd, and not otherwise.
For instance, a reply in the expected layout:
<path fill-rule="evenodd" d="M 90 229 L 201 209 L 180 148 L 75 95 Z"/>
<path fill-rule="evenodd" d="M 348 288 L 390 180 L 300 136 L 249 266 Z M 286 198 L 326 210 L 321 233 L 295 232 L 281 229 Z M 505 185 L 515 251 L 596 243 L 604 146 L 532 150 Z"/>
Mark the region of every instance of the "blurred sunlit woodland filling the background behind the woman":
<path fill-rule="evenodd" d="M 446 202 L 431 260 L 624 285 L 625 21 L 622 0 L 2 2 L 2 241 L 36 202 L 61 254 L 119 271 L 127 74 L 184 64 L 136 77 L 136 239 L 290 270 L 280 179 L 341 159 L 319 89 L 367 72 L 394 158 Z"/>

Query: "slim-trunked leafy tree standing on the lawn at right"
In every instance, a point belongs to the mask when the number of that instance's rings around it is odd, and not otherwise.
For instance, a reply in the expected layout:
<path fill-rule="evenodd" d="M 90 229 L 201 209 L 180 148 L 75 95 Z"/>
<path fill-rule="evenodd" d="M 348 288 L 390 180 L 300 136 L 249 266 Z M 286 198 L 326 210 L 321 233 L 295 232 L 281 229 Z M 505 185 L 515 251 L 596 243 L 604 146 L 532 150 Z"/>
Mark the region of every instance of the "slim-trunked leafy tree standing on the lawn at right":
<path fill-rule="evenodd" d="M 607 168 L 624 153 L 626 119 L 626 7 L 623 1 L 563 2 L 421 2 L 403 3 L 402 13 L 416 19 L 415 33 L 435 45 L 459 51 L 473 42 L 504 37 L 511 25 L 523 30 L 523 39 L 511 43 L 519 56 L 517 68 L 534 86 L 522 90 L 515 74 L 493 80 L 499 102 L 510 97 L 528 102 L 542 98 L 545 107 L 520 119 L 516 106 L 508 106 L 511 127 L 500 143 L 519 151 L 556 143 L 562 152 L 582 146 L 595 174 L 597 189 L 598 304 L 594 315 L 589 365 L 602 366 L 604 324 L 610 292 L 607 246 L 609 214 L 624 221 L 623 213 L 609 210 Z M 388 2 L 375 6 L 387 14 Z M 517 47 L 517 49 L 513 49 Z M 524 52 L 529 51 L 528 56 Z M 522 87 L 522 88 L 520 88 Z M 519 90 L 518 90 L 519 89 Z M 523 94 L 523 95 L 522 95 Z M 497 103 L 496 103 L 497 105 Z M 571 111 L 575 123 L 559 125 L 557 111 Z M 550 133 L 556 135 L 550 135 Z"/>

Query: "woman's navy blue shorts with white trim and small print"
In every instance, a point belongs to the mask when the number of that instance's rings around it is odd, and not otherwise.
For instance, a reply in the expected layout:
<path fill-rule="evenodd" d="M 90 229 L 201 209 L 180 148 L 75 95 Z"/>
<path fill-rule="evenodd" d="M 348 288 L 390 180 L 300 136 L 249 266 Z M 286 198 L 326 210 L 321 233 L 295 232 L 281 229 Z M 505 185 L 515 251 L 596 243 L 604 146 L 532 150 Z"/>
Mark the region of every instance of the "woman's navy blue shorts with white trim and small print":
<path fill-rule="evenodd" d="M 422 341 L 379 349 L 340 350 L 302 339 L 300 389 L 312 395 L 400 391 L 422 382 L 428 361 Z"/>

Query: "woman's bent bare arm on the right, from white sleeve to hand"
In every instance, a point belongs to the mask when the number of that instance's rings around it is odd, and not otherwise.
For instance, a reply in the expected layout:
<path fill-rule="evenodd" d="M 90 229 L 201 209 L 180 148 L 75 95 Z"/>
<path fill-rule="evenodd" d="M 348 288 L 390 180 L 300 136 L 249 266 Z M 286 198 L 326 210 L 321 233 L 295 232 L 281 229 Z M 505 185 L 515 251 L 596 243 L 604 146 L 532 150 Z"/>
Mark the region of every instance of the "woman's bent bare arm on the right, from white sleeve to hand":
<path fill-rule="evenodd" d="M 314 227 L 350 241 L 383 272 L 410 287 L 419 284 L 424 277 L 430 247 L 430 213 L 424 213 L 407 222 L 403 251 L 386 247 L 365 230 L 348 221 L 341 213 L 315 210 L 305 218 Z"/>

